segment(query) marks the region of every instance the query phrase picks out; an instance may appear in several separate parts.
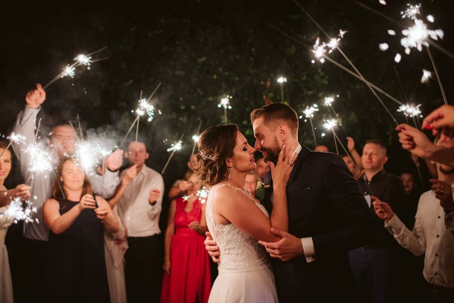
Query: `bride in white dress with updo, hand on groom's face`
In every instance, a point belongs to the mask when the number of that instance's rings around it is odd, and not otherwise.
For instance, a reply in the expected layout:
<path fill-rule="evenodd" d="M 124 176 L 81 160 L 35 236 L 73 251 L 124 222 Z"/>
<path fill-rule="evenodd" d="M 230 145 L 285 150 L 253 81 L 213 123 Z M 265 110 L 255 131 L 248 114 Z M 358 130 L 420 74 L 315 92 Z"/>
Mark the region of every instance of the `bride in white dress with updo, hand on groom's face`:
<path fill-rule="evenodd" d="M 219 275 L 209 302 L 277 302 L 269 256 L 258 240 L 275 242 L 280 237 L 271 227 L 288 230 L 286 184 L 294 147 L 282 147 L 273 177 L 271 216 L 244 189 L 247 173 L 256 168 L 254 151 L 233 124 L 212 126 L 200 135 L 196 173 L 211 187 L 207 199 L 207 225 L 217 242 Z M 295 154 L 296 155 L 296 154 Z M 290 159 L 292 158 L 292 159 Z M 290 159 L 290 160 L 289 160 Z"/>

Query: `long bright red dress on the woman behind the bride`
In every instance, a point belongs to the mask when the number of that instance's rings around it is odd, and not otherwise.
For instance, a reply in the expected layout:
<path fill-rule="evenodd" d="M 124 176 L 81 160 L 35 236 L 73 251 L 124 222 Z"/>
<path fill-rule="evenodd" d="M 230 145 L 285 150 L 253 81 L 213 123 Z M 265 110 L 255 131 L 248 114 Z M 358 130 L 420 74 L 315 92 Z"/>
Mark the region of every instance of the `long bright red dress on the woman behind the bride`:
<path fill-rule="evenodd" d="M 194 201 L 189 213 L 184 211 L 187 201 L 176 199 L 175 234 L 170 246 L 170 276 L 164 272 L 162 303 L 208 302 L 211 290 L 210 260 L 205 250 L 205 236 L 188 226 L 200 222 L 201 204 Z"/>

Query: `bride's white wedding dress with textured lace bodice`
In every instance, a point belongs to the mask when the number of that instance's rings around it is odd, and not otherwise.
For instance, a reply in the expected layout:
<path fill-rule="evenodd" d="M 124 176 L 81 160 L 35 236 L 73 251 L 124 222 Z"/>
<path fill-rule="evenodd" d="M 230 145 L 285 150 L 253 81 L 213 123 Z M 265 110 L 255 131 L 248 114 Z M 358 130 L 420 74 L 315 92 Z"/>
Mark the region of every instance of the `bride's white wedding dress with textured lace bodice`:
<path fill-rule="evenodd" d="M 221 186 L 231 185 L 215 185 L 211 188 L 207 199 L 208 229 L 221 252 L 219 275 L 213 284 L 209 303 L 277 302 L 274 275 L 265 247 L 235 225 L 219 224 L 214 218 L 213 196 Z M 256 203 L 256 205 L 269 217 L 261 204 Z"/>

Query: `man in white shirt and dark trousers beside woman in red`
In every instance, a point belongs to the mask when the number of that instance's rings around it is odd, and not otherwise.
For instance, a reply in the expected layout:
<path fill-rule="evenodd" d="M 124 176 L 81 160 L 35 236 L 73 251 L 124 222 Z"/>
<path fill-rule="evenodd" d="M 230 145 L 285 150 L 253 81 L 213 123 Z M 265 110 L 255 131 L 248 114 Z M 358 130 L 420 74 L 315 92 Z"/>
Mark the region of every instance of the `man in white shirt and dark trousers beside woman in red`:
<path fill-rule="evenodd" d="M 162 278 L 159 216 L 164 181 L 161 174 L 145 165 L 149 155 L 143 142 L 131 142 L 125 157 L 130 166 L 137 165 L 137 176 L 118 201 L 118 213 L 126 227 L 129 244 L 125 254 L 126 294 L 129 303 L 157 302 Z"/>

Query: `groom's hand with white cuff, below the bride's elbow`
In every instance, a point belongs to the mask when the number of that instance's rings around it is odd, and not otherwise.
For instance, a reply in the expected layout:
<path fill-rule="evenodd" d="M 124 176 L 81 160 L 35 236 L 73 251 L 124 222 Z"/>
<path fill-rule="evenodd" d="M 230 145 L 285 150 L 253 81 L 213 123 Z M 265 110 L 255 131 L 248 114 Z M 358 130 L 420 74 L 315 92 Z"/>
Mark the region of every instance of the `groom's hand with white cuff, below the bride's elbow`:
<path fill-rule="evenodd" d="M 288 261 L 295 257 L 304 255 L 300 238 L 297 238 L 288 232 L 280 231 L 276 228 L 272 228 L 271 232 L 282 239 L 277 242 L 259 241 L 259 243 L 265 246 L 267 252 L 272 258 Z"/>

